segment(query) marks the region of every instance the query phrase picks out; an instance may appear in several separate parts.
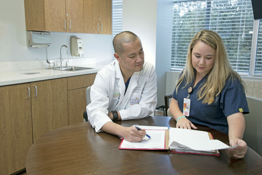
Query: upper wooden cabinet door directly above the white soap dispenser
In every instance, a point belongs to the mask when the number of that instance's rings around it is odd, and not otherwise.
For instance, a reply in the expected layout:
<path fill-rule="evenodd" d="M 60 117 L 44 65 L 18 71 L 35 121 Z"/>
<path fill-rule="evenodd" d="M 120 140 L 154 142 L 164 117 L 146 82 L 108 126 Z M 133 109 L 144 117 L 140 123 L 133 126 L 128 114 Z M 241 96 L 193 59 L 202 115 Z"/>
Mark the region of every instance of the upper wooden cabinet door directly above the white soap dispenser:
<path fill-rule="evenodd" d="M 83 0 L 65 0 L 67 32 L 84 33 Z"/>

